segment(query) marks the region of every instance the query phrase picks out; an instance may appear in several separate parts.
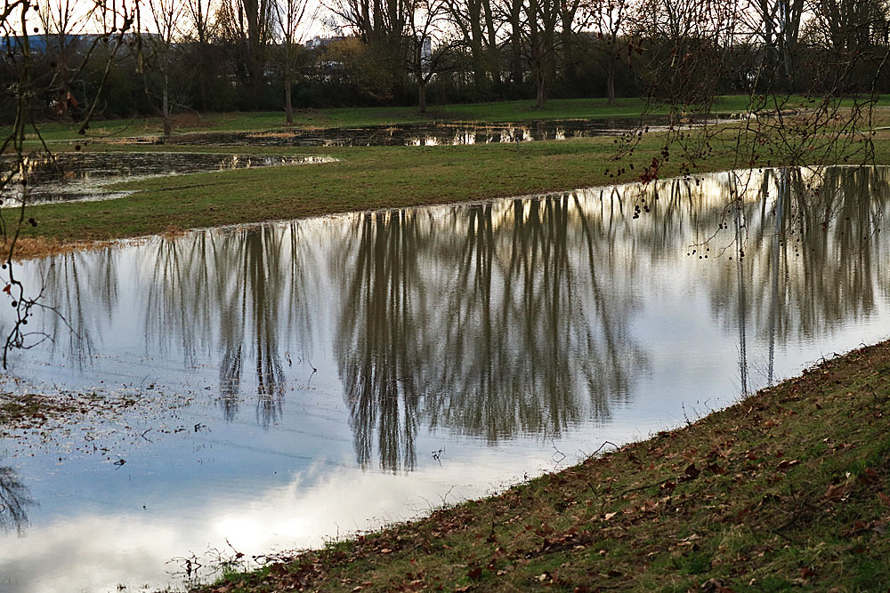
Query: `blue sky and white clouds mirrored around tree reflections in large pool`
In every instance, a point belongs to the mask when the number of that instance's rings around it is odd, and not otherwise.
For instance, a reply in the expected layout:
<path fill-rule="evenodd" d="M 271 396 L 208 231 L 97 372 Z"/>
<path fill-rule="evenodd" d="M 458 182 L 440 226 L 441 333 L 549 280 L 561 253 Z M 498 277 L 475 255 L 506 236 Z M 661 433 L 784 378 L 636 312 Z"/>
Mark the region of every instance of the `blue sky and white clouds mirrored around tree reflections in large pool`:
<path fill-rule="evenodd" d="M 172 241 L 156 238 L 109 252 L 64 256 L 54 260 L 52 269 L 50 260 L 22 266 L 20 274 L 28 286 L 39 284 L 38 277 L 48 278 L 47 298 L 53 304 L 64 304 L 69 323 L 83 340 L 73 339 L 52 317 L 45 317 L 40 321 L 56 341 L 17 353 L 15 373 L 30 381 L 79 389 L 100 383 L 109 390 L 124 383 L 134 389 L 152 386 L 152 393 L 170 394 L 171 402 L 181 396 L 194 401 L 174 409 L 137 405 L 121 418 L 112 415 L 69 427 L 46 443 L 39 443 L 37 435 L 0 443 L 0 465 L 12 466 L 39 503 L 28 509 L 30 525 L 23 538 L 14 532 L 0 536 L 0 574 L 7 580 L 0 580 L 0 589 L 68 591 L 74 583 L 79 589 L 105 590 L 114 589 L 118 582 L 162 584 L 165 571 L 175 568 L 166 564 L 172 557 L 191 552 L 200 556 L 208 548 L 225 551 L 226 539 L 248 555 L 318 545 L 337 533 L 429 509 L 440 504 L 449 491 L 448 500 L 453 501 L 496 489 L 526 473 L 553 469 L 561 459 L 557 452 L 568 455 L 566 462 L 576 461 L 604 440 L 619 443 L 646 437 L 738 397 L 742 384 L 740 329 L 746 338 L 748 387 L 755 389 L 766 381 L 771 337 L 778 377 L 797 373 L 803 365 L 831 352 L 886 337 L 887 297 L 879 274 L 886 256 L 878 242 L 871 244 L 871 258 L 876 263 L 861 270 L 875 287 L 872 304 L 849 288 L 841 291 L 847 300 L 845 306 L 835 307 L 830 295 L 807 292 L 812 288 L 809 284 L 804 285 L 806 290 L 795 284 L 804 263 L 786 262 L 787 284 L 783 280 L 780 303 L 786 315 L 781 331 L 771 334 L 763 315 L 770 301 L 760 292 L 770 285 L 769 249 L 773 242 L 765 240 L 756 248 L 752 235 L 743 268 L 748 309 L 741 316 L 737 261 L 725 256 L 708 261 L 686 256 L 696 236 L 711 232 L 717 220 L 724 220 L 722 191 L 728 180 L 725 176 L 704 180 L 694 186 L 688 201 L 674 204 L 671 214 L 667 213 L 667 184 L 659 188 L 659 208 L 665 213 L 633 221 L 634 200 L 640 197 L 633 187 L 621 189 L 624 215 L 619 215 L 611 190 L 570 195 L 578 198 L 579 205 L 570 204 L 566 211 L 568 235 L 563 238 L 568 238 L 574 249 L 566 259 L 568 271 L 560 276 L 567 278 L 565 285 L 556 287 L 571 288 L 574 301 L 567 302 L 576 306 L 567 313 L 580 316 L 576 324 L 611 325 L 611 333 L 603 335 L 618 343 L 606 354 L 614 355 L 617 364 L 627 365 L 627 381 L 622 383 L 626 391 L 603 394 L 598 389 L 603 389 L 604 383 L 590 387 L 573 377 L 571 389 L 576 391 L 569 397 L 533 394 L 537 399 L 532 397 L 524 405 L 540 409 L 532 413 L 523 410 L 527 416 L 522 428 L 510 429 L 507 423 L 506 429 L 494 435 L 484 426 L 481 430 L 473 425 L 472 414 L 454 410 L 437 416 L 436 428 L 430 429 L 424 405 L 437 398 L 454 404 L 490 395 L 474 394 L 474 384 L 467 388 L 471 390 L 464 394 L 465 399 L 455 392 L 465 387 L 458 381 L 463 375 L 478 372 L 472 359 L 461 363 L 465 366 L 457 368 L 457 377 L 435 382 L 439 375 L 447 374 L 442 370 L 457 364 L 449 359 L 448 348 L 458 318 L 469 316 L 473 323 L 465 327 L 475 332 L 481 315 L 481 309 L 470 307 L 466 309 L 469 312 L 460 309 L 461 314 L 454 315 L 444 304 L 465 307 L 480 290 L 479 284 L 470 283 L 466 293 L 453 293 L 450 283 L 459 276 L 455 270 L 469 270 L 473 276 L 487 266 L 477 259 L 478 252 L 462 251 L 473 228 L 467 217 L 471 206 L 418 210 L 414 211 L 420 213 L 416 219 L 406 219 L 405 228 L 417 231 L 411 235 L 420 261 L 416 276 L 412 276 L 415 268 L 396 266 L 411 262 L 411 258 L 397 257 L 397 252 L 385 249 L 373 251 L 381 248 L 376 240 L 379 235 L 357 235 L 365 220 L 361 215 L 279 224 L 273 227 L 277 231 L 263 231 L 262 245 L 247 230 L 231 228 Z M 758 197 L 753 188 L 759 184 L 759 178 L 749 183 L 751 190 L 745 197 L 750 206 L 746 220 L 752 228 L 759 228 L 765 220 L 757 214 Z M 770 181 L 768 185 L 774 193 L 775 184 Z M 645 196 L 651 197 L 652 191 L 648 188 Z M 881 196 L 886 201 L 886 191 Z M 522 220 L 529 222 L 538 209 L 531 200 L 518 204 L 518 209 L 515 205 L 510 201 L 492 204 L 495 239 L 490 268 L 494 279 L 481 302 L 496 309 L 499 303 L 506 303 L 506 317 L 522 328 L 529 321 L 539 321 L 533 318 L 538 311 L 544 317 L 546 310 L 553 309 L 555 301 L 548 301 L 550 289 L 541 290 L 553 280 L 533 274 L 535 268 L 526 270 L 528 276 L 510 276 L 505 271 L 513 260 L 510 245 L 526 241 L 540 250 L 536 257 L 545 257 L 541 253 L 548 249 L 559 251 L 554 245 L 559 246 L 560 236 L 555 231 L 547 235 L 558 219 L 554 214 L 554 219 L 544 219 L 546 225 L 530 227 L 529 236 L 517 239 L 515 212 L 521 212 Z M 396 214 L 388 214 L 380 219 L 381 224 L 392 226 L 395 218 Z M 531 240 L 541 228 L 545 228 L 543 235 Z M 576 246 L 583 243 L 578 236 L 583 236 L 585 229 L 595 234 L 597 241 L 595 266 L 590 268 L 586 248 Z M 404 239 L 409 233 L 399 236 Z M 549 236 L 554 243 L 540 236 Z M 256 249 L 244 246 L 248 239 Z M 542 242 L 536 242 L 539 239 Z M 829 236 L 830 241 L 836 239 Z M 719 236 L 719 240 L 732 244 L 732 237 Z M 353 276 L 356 262 L 362 261 L 357 250 L 368 246 L 372 251 L 365 255 L 378 267 L 368 268 L 368 278 L 362 279 Z M 384 264 L 393 267 L 385 268 Z M 807 265 L 831 273 L 845 271 L 832 260 L 812 260 Z M 263 276 L 269 267 L 275 273 Z M 375 276 L 381 268 L 392 274 Z M 520 283 L 519 294 L 508 292 L 507 277 Z M 845 282 L 845 277 L 838 276 L 835 284 Z M 115 286 L 113 290 L 105 288 L 109 283 Z M 417 315 L 412 307 L 424 309 L 424 315 L 412 322 L 417 328 L 401 328 L 417 341 L 417 352 L 392 354 L 385 348 L 392 340 L 400 340 L 401 334 L 394 339 L 387 337 L 389 334 L 375 336 L 361 325 L 381 321 L 374 318 L 380 304 L 374 298 L 377 284 L 394 286 L 392 293 L 381 292 L 387 307 L 392 305 L 386 301 L 389 295 L 408 295 L 400 301 L 400 315 Z M 355 306 L 350 301 L 353 289 L 365 295 Z M 514 286 L 513 290 L 518 289 Z M 530 309 L 522 309 L 522 295 L 527 293 L 540 304 L 535 301 Z M 271 309 L 256 309 L 255 303 L 269 295 L 275 295 L 271 301 L 277 309 L 271 305 Z M 821 317 L 805 322 L 798 309 L 813 303 Z M 257 312 L 267 315 L 255 315 Z M 242 313 L 245 317 L 239 317 Z M 345 320 L 353 317 L 356 325 L 344 331 Z M 742 318 L 746 321 L 740 328 Z M 528 358 L 523 357 L 524 352 L 540 346 L 525 340 L 538 334 L 522 333 L 514 325 L 508 332 L 508 348 L 495 352 L 522 362 Z M 558 327 L 559 331 L 578 329 L 571 324 Z M 416 333 L 421 334 L 419 338 Z M 556 348 L 565 349 L 556 354 L 569 357 L 570 369 L 582 369 L 585 361 L 572 357 L 600 356 L 607 348 L 599 333 L 595 338 L 594 350 L 584 349 L 578 341 L 555 341 Z M 346 342 L 337 343 L 338 339 Z M 87 340 L 89 349 L 85 349 Z M 476 348 L 478 341 L 481 334 L 473 333 L 466 347 Z M 238 410 L 227 420 L 217 398 L 221 352 L 232 344 L 242 346 L 243 369 L 237 389 Z M 377 346 L 362 349 L 368 344 Z M 433 347 L 426 349 L 427 344 Z M 383 349 L 376 349 L 378 346 Z M 261 385 L 252 373 L 260 355 L 270 349 L 280 363 L 280 381 L 275 385 L 280 390 L 281 407 L 263 424 L 266 417 L 258 405 L 263 396 L 257 394 Z M 344 351 L 352 358 L 344 358 Z M 547 356 L 546 349 L 536 352 Z M 343 369 L 363 357 L 371 363 L 396 360 L 408 365 L 404 368 L 412 377 L 426 378 L 433 386 L 451 390 L 444 394 L 424 389 L 417 392 L 421 402 L 415 419 L 417 464 L 413 471 L 381 469 L 383 461 L 373 460 L 362 469 L 356 459 L 353 431 L 360 422 L 351 416 L 350 402 L 344 401 Z M 528 361 L 529 365 L 535 362 Z M 374 369 L 371 363 L 359 370 Z M 513 365 L 511 372 L 522 373 L 515 360 L 486 364 L 507 363 Z M 543 363 L 551 365 L 553 361 Z M 433 371 L 423 365 L 432 366 Z M 316 373 L 312 373 L 313 367 Z M 392 397 L 407 397 L 410 391 L 404 381 L 410 378 L 396 378 L 401 390 L 392 391 Z M 500 390 L 497 381 L 509 379 L 496 377 L 490 383 L 492 390 Z M 359 394 L 377 395 L 360 389 Z M 497 398 L 490 399 L 494 409 L 513 409 Z M 156 395 L 152 401 L 165 401 L 165 397 Z M 368 402 L 383 405 L 374 397 L 368 397 Z M 548 419 L 565 413 L 559 406 L 566 402 L 577 407 L 578 415 L 570 414 L 561 424 L 556 423 L 558 435 L 548 433 Z M 409 425 L 404 403 L 395 410 L 399 426 Z M 378 413 L 376 421 L 368 422 L 371 429 L 379 429 L 383 422 L 383 413 Z M 543 420 L 535 425 L 538 416 Z M 369 438 L 375 450 L 380 446 L 378 437 L 372 430 Z M 23 443 L 34 446 L 28 448 Z M 441 466 L 432 456 L 440 449 L 444 449 Z M 121 459 L 125 460 L 123 465 L 114 464 Z"/>

